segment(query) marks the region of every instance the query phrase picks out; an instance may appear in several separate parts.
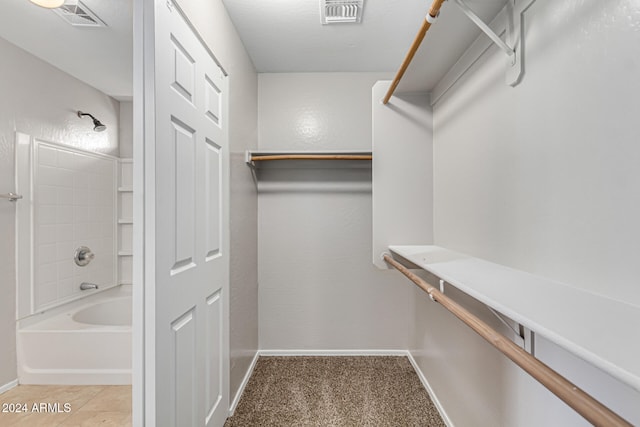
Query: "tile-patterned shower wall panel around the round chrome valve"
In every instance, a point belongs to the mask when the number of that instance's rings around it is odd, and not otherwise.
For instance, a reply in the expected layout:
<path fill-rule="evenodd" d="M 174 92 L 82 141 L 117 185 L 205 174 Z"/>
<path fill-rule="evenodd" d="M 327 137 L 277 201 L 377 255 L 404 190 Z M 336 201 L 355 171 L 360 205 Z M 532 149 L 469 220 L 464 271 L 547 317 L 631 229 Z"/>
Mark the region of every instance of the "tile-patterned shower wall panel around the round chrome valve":
<path fill-rule="evenodd" d="M 82 282 L 116 284 L 116 159 L 44 142 L 35 154 L 33 294 L 43 310 L 79 296 Z M 95 254 L 84 267 L 80 246 Z"/>

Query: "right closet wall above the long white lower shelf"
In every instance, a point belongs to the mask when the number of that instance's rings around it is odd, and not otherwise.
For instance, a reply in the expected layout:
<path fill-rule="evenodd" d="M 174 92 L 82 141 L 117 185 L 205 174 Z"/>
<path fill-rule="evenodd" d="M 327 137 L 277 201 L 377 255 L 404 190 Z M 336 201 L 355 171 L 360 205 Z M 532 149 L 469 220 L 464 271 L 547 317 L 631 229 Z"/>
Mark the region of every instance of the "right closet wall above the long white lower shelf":
<path fill-rule="evenodd" d="M 435 106 L 443 246 L 640 304 L 639 10 L 538 0 L 522 83 L 494 49 Z"/>

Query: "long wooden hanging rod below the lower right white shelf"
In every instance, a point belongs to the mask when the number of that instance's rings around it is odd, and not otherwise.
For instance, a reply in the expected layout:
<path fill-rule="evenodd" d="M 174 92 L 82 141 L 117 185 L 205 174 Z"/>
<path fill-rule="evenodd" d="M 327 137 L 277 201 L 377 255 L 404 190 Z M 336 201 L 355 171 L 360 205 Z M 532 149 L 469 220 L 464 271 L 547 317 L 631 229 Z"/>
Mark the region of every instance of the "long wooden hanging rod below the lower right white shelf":
<path fill-rule="evenodd" d="M 589 394 L 575 386 L 562 375 L 542 363 L 513 341 L 496 332 L 489 325 L 471 314 L 451 298 L 444 295 L 438 288 L 430 285 L 420 277 L 409 271 L 405 266 L 394 260 L 389 254 L 384 254 L 383 259 L 396 270 L 404 274 L 409 280 L 425 291 L 429 297 L 440 303 L 453 313 L 458 319 L 487 340 L 491 345 L 500 350 L 516 365 L 531 375 L 549 391 L 558 396 L 562 401 L 579 413 L 587 421 L 595 426 L 626 426 L 631 424 L 615 412 L 595 400 Z"/>

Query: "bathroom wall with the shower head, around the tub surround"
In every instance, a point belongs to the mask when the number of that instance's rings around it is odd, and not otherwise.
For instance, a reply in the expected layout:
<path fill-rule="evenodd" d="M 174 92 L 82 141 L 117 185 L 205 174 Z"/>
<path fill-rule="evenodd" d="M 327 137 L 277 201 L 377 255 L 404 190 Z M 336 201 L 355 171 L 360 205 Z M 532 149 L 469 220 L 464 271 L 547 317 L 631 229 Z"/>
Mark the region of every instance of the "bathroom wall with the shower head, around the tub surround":
<path fill-rule="evenodd" d="M 0 39 L 0 193 L 13 191 L 15 131 L 118 155 L 118 102 Z M 107 130 L 95 133 L 94 114 Z M 19 203 L 19 202 L 18 202 Z M 15 206 L 0 200 L 0 386 L 16 378 Z"/>

